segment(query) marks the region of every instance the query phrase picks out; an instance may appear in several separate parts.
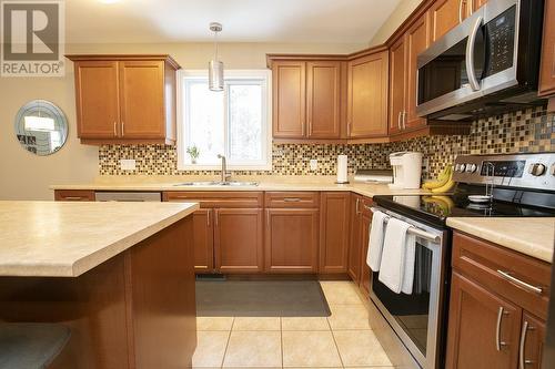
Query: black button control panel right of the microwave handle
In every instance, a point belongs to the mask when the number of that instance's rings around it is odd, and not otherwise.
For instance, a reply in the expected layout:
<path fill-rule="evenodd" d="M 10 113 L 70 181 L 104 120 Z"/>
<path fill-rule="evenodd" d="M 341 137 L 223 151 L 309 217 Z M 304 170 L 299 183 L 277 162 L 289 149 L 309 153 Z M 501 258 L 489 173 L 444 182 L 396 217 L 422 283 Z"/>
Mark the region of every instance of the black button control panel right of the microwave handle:
<path fill-rule="evenodd" d="M 507 9 L 485 25 L 486 48 L 490 54 L 487 75 L 513 66 L 516 6 Z"/>

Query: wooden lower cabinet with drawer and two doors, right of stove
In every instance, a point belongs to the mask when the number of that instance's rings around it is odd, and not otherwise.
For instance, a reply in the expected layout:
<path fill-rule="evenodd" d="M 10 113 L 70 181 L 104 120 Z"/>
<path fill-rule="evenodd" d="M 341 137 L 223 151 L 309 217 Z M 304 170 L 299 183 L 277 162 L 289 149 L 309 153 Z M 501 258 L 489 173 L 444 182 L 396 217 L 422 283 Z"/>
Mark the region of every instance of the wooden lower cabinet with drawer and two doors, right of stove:
<path fill-rule="evenodd" d="M 446 368 L 539 369 L 549 271 L 547 263 L 455 232 Z"/>

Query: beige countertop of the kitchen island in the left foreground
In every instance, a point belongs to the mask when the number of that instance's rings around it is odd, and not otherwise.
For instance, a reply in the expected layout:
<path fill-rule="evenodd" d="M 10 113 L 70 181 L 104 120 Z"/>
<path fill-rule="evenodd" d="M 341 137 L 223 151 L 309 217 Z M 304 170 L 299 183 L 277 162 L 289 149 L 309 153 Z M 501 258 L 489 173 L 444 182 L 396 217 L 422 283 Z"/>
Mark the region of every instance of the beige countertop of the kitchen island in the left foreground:
<path fill-rule="evenodd" d="M 77 277 L 198 208 L 191 203 L 0 202 L 0 276 Z"/>

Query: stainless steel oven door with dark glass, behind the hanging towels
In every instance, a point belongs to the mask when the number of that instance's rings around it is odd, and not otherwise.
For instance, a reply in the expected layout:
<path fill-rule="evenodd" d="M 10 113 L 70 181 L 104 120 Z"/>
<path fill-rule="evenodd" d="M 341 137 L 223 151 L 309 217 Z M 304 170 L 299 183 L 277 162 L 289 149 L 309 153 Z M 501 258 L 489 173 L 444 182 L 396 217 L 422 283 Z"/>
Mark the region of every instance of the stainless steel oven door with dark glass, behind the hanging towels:
<path fill-rule="evenodd" d="M 416 237 L 414 286 L 411 295 L 393 293 L 379 280 L 379 273 L 372 273 L 370 296 L 418 365 L 425 369 L 441 368 L 440 355 L 445 330 L 442 322 L 445 316 L 445 284 L 448 275 L 446 232 L 383 208 L 380 211 L 411 223 L 438 239 L 432 242 Z"/>

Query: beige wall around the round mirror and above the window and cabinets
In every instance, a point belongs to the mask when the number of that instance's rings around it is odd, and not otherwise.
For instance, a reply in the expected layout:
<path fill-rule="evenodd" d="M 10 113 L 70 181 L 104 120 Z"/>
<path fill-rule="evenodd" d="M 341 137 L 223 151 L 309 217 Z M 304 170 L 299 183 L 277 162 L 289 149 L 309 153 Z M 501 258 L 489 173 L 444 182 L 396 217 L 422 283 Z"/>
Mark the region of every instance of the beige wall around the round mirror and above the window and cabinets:
<path fill-rule="evenodd" d="M 272 52 L 350 53 L 363 44 L 262 44 L 229 43 L 220 47 L 225 68 L 265 68 Z M 80 44 L 67 53 L 169 53 L 185 69 L 206 68 L 211 43 L 186 44 Z M 20 147 L 13 134 L 13 119 L 21 105 L 34 99 L 56 103 L 64 112 L 70 131 L 65 145 L 54 155 L 34 156 Z M 0 199 L 51 199 L 51 184 L 87 183 L 98 173 L 98 148 L 81 145 L 75 131 L 73 70 L 64 78 L 0 78 Z"/>

